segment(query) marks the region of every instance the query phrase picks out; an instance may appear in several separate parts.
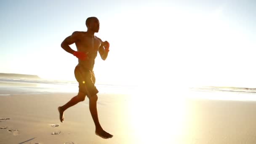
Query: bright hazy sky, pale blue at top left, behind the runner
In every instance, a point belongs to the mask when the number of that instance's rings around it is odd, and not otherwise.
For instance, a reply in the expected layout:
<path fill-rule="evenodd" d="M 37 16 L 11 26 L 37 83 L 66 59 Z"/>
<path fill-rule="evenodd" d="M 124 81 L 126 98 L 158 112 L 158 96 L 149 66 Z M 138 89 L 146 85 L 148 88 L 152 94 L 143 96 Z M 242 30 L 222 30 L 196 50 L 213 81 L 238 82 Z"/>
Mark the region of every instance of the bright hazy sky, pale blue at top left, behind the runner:
<path fill-rule="evenodd" d="M 98 84 L 256 87 L 254 0 L 2 0 L 0 72 L 75 80 L 60 44 L 89 16 L 110 43 Z"/>

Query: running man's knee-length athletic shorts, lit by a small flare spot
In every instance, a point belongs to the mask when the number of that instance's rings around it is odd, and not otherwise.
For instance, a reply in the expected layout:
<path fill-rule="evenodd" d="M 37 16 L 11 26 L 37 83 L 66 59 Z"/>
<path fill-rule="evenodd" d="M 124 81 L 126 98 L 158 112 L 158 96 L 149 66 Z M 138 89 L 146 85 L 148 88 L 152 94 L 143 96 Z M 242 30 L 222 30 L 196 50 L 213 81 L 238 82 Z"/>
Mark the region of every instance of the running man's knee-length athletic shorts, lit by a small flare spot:
<path fill-rule="evenodd" d="M 95 87 L 94 73 L 81 66 L 75 67 L 75 79 L 79 83 L 79 92 L 85 93 L 88 98 L 96 95 L 99 91 Z"/>

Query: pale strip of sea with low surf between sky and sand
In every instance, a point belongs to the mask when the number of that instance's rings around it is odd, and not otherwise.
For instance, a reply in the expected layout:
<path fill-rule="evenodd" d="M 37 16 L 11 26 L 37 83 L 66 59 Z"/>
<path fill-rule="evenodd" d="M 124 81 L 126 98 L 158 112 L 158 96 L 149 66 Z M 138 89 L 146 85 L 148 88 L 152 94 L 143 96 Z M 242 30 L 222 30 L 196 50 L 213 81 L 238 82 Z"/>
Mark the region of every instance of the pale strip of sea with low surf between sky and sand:
<path fill-rule="evenodd" d="M 170 85 L 102 85 L 96 84 L 99 94 L 128 94 L 143 99 L 210 99 L 256 101 L 256 88 L 234 87 L 200 87 L 185 88 Z M 13 94 L 37 93 L 77 93 L 78 83 L 75 81 L 57 81 L 25 78 L 0 78 L 0 96 Z"/>

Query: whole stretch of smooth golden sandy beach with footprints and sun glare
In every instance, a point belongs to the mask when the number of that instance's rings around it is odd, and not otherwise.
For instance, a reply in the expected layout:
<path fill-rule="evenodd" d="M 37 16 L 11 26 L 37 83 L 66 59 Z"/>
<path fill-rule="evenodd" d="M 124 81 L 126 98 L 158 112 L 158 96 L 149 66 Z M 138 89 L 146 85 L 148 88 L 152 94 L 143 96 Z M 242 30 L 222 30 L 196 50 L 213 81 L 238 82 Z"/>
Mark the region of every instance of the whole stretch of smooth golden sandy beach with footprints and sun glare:
<path fill-rule="evenodd" d="M 101 125 L 114 135 L 102 139 L 94 134 L 87 98 L 59 121 L 57 107 L 75 94 L 0 96 L 0 144 L 256 143 L 255 101 L 186 99 L 157 106 L 157 99 L 141 104 L 133 96 L 100 94 Z"/>

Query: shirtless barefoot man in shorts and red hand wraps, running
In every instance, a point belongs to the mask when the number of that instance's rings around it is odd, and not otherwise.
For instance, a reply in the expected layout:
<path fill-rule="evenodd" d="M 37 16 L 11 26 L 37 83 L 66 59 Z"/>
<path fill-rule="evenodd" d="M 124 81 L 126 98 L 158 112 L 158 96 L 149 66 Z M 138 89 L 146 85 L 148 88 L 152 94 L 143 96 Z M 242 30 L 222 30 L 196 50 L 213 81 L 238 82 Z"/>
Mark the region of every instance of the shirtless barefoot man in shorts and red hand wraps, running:
<path fill-rule="evenodd" d="M 61 43 L 61 48 L 78 58 L 78 64 L 75 67 L 75 78 L 79 83 L 79 92 L 67 104 L 58 107 L 59 119 L 62 123 L 64 121 L 64 111 L 78 102 L 84 101 L 85 96 L 87 96 L 89 98 L 91 116 L 96 127 L 95 133 L 101 138 L 108 139 L 112 138 L 113 135 L 104 131 L 99 123 L 97 112 L 97 93 L 99 91 L 94 85 L 93 66 L 98 51 L 101 59 L 105 60 L 107 58 L 109 43 L 107 41 L 102 42 L 100 38 L 94 36 L 95 32 L 99 32 L 99 20 L 96 17 L 89 17 L 85 23 L 87 32 L 73 32 Z M 73 43 L 75 43 L 77 51 L 69 47 Z"/>

